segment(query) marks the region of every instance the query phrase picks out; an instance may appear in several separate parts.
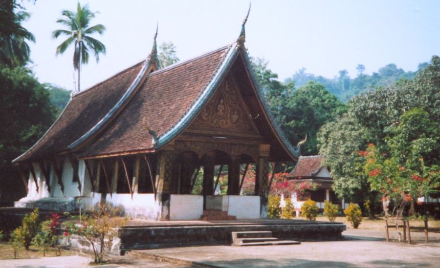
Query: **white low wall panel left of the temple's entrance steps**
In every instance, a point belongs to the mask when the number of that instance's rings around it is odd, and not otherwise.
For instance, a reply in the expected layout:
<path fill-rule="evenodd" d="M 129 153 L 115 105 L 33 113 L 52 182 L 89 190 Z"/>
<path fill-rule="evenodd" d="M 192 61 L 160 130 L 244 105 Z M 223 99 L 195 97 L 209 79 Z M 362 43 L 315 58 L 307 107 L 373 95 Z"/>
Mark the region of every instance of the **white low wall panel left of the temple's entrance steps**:
<path fill-rule="evenodd" d="M 170 199 L 170 220 L 199 220 L 203 214 L 203 196 L 172 194 Z"/>

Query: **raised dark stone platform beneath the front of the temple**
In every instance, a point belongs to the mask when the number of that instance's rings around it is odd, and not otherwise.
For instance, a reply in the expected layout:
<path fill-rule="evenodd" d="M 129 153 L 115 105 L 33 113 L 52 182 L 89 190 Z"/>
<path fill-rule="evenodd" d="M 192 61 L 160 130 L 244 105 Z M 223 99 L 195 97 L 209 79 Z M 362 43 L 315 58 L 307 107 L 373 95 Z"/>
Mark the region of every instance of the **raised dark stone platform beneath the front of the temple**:
<path fill-rule="evenodd" d="M 280 240 L 341 240 L 342 223 L 305 220 L 146 221 L 132 220 L 119 232 L 121 253 L 133 249 L 231 245 L 232 232 L 271 231 Z"/>

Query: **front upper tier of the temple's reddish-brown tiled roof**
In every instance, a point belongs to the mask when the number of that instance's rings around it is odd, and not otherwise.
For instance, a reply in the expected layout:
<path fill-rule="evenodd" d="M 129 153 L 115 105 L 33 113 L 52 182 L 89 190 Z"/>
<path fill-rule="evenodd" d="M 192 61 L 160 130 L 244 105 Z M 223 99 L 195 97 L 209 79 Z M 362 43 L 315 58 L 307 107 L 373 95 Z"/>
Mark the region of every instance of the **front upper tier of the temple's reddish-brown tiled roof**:
<path fill-rule="evenodd" d="M 144 118 L 157 136 L 171 129 L 198 100 L 229 49 L 222 47 L 151 73 L 121 114 L 80 157 L 152 148 L 153 137 L 145 129 Z"/>

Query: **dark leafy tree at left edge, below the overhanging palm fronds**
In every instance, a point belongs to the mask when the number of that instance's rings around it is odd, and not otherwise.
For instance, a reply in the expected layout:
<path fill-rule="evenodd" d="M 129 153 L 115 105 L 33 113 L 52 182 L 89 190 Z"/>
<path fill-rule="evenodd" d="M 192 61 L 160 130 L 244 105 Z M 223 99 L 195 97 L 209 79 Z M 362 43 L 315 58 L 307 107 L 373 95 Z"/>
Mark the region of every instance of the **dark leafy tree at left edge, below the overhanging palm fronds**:
<path fill-rule="evenodd" d="M 54 120 L 49 92 L 24 67 L 0 68 L 0 190 L 3 200 L 17 200 L 20 175 L 11 161 L 32 146 Z"/>

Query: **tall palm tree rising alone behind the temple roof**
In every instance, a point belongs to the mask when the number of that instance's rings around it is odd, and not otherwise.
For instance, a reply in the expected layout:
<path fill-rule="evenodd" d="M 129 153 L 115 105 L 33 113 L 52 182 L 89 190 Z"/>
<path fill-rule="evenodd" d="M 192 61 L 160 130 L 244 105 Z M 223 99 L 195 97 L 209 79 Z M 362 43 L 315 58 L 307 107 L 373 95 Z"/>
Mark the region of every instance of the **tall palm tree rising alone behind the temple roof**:
<path fill-rule="evenodd" d="M 57 47 L 57 53 L 63 54 L 67 47 L 74 43 L 73 53 L 73 68 L 78 70 L 78 92 L 80 91 L 80 75 L 81 64 L 88 63 L 88 52 L 91 50 L 96 57 L 96 62 L 99 62 L 99 54 L 106 54 L 106 46 L 100 41 L 90 37 L 93 33 L 103 34 L 106 27 L 102 24 L 96 24 L 89 27 L 90 20 L 99 12 L 91 12 L 88 5 L 81 6 L 78 2 L 76 13 L 68 10 L 63 10 L 61 13 L 64 17 L 57 22 L 67 26 L 68 30 L 55 30 L 52 32 L 53 38 L 58 38 L 64 34 L 68 38 Z"/>

